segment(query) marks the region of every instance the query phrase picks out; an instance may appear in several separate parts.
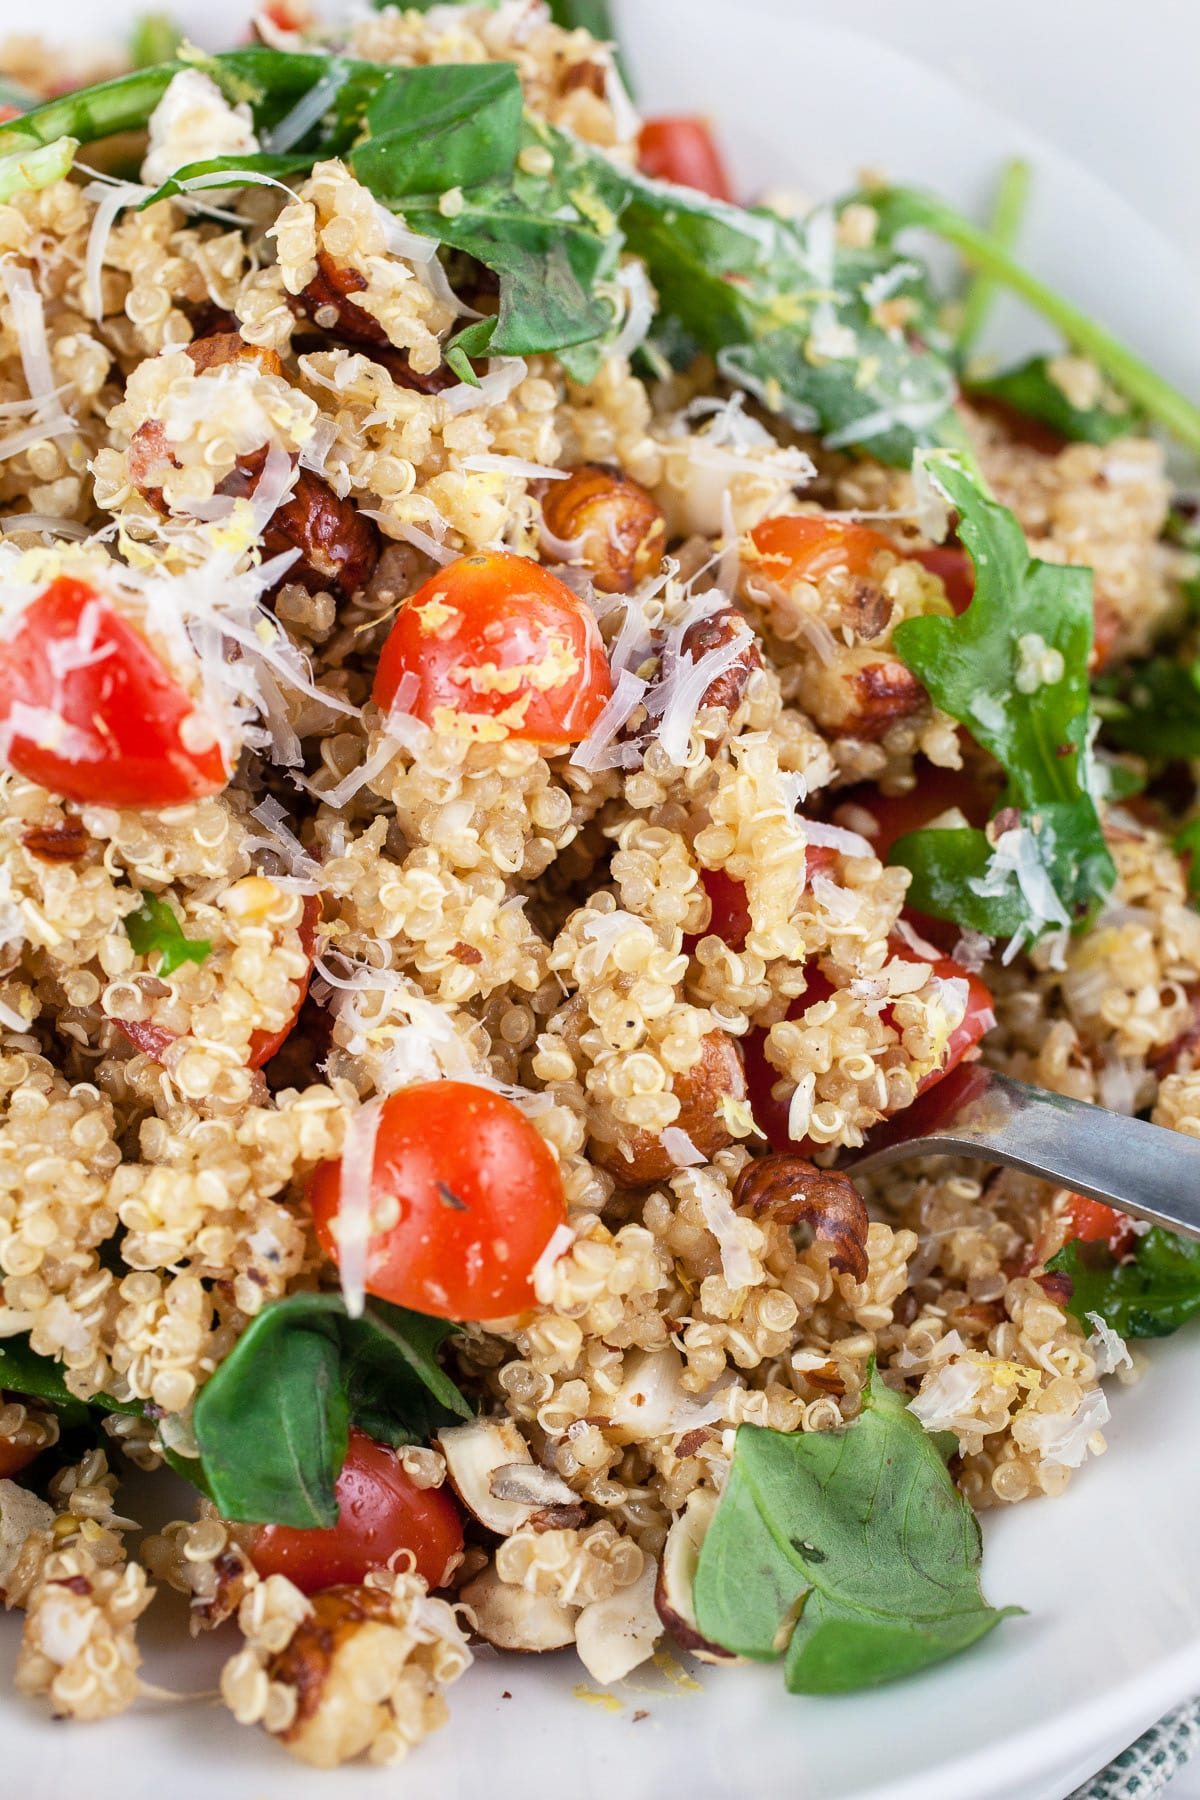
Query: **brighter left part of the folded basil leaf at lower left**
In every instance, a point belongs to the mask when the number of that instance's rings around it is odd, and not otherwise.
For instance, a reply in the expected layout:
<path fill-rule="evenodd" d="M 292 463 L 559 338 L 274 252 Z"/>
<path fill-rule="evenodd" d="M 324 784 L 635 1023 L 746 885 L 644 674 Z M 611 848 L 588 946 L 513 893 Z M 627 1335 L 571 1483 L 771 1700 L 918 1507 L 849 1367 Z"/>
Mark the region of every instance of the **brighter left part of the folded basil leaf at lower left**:
<path fill-rule="evenodd" d="M 349 1422 L 336 1296 L 264 1307 L 193 1408 L 221 1514 L 246 1525 L 336 1525 Z"/>

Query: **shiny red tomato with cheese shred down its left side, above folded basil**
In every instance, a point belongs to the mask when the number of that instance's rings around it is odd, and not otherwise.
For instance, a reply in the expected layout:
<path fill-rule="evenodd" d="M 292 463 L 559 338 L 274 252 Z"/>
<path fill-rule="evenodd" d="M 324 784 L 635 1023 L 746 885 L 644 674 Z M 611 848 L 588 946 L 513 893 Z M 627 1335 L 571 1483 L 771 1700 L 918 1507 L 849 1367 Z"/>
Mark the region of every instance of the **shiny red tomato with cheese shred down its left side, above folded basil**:
<path fill-rule="evenodd" d="M 336 1262 L 342 1163 L 309 1181 L 317 1237 Z M 533 1303 L 533 1267 L 567 1215 L 545 1139 L 511 1100 L 470 1082 L 417 1082 L 381 1103 L 367 1291 L 441 1319 L 498 1319 Z"/>

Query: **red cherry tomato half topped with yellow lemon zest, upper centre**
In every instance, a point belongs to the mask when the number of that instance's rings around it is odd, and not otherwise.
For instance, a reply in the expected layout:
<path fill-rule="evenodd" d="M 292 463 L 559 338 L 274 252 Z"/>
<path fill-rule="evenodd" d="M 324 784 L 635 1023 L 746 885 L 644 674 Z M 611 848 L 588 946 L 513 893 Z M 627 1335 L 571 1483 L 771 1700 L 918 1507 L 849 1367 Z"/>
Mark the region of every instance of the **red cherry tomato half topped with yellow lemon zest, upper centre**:
<path fill-rule="evenodd" d="M 401 704 L 435 731 L 495 720 L 491 734 L 538 743 L 587 738 L 612 697 L 588 608 L 507 551 L 461 556 L 405 601 L 374 677 L 383 711 L 405 677 L 414 691 Z"/>

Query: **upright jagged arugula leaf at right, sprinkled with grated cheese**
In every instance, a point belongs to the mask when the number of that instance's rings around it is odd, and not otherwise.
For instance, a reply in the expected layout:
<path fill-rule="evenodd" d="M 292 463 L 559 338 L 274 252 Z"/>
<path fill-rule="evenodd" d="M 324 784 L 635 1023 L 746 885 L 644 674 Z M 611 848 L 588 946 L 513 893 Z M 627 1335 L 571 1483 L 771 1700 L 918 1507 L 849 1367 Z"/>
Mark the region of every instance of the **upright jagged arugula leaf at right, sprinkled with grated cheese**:
<path fill-rule="evenodd" d="M 896 653 L 1002 763 L 1002 808 L 1020 812 L 1022 837 L 1000 835 L 993 855 L 984 832 L 925 830 L 889 860 L 914 871 L 912 905 L 990 936 L 1076 923 L 1115 880 L 1087 767 L 1092 572 L 1031 560 L 1013 515 L 952 452 L 923 466 L 959 513 L 975 598 L 957 619 L 905 619 Z"/>

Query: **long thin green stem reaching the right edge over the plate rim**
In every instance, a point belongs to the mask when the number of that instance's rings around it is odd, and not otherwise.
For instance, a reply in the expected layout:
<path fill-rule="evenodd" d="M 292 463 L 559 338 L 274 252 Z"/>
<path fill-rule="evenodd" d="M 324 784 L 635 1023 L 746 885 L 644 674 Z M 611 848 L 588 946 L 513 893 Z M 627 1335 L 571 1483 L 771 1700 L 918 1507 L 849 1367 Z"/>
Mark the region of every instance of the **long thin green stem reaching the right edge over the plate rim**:
<path fill-rule="evenodd" d="M 1155 374 L 1155 371 L 1135 356 L 1128 344 L 1123 344 L 1105 331 L 1101 324 L 1072 306 L 1043 281 L 1031 275 L 1002 243 L 973 225 L 945 200 L 934 194 L 918 193 L 912 187 L 883 187 L 865 194 L 869 205 L 880 214 L 885 232 L 923 227 L 952 243 L 966 263 L 999 281 L 1002 286 L 1020 293 L 1034 311 L 1058 326 L 1067 342 L 1090 356 L 1092 362 L 1119 387 L 1142 412 L 1157 419 L 1159 425 L 1173 432 L 1180 443 L 1200 455 L 1200 407 L 1180 394 L 1178 389 Z"/>

